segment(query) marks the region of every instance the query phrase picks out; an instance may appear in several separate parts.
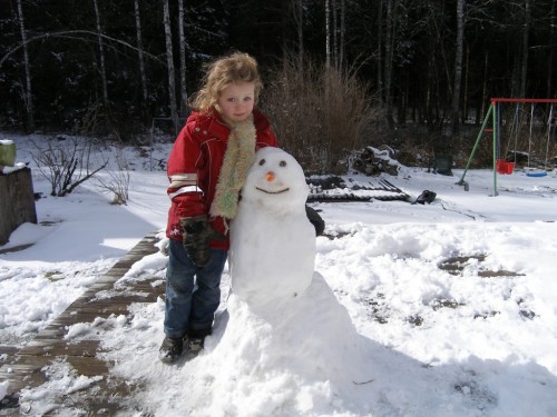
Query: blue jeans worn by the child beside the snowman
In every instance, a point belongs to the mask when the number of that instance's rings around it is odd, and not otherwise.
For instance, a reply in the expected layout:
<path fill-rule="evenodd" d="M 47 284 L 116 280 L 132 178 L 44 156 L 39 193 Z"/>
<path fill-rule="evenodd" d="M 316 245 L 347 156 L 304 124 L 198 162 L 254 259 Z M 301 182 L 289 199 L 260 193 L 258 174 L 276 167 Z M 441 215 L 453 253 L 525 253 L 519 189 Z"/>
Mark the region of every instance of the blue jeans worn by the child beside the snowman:
<path fill-rule="evenodd" d="M 209 264 L 199 268 L 189 260 L 180 241 L 170 239 L 168 251 L 165 334 L 173 338 L 188 332 L 206 336 L 221 302 L 221 275 L 228 254 L 212 249 Z"/>

